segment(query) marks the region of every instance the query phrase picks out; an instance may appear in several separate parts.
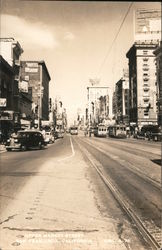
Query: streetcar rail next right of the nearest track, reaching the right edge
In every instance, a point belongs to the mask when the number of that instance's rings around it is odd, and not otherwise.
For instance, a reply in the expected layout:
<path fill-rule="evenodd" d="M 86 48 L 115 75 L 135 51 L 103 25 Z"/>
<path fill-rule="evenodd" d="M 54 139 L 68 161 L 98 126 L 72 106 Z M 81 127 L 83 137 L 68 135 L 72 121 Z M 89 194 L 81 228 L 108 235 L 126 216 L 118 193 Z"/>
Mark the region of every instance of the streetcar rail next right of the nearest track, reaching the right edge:
<path fill-rule="evenodd" d="M 108 156 L 109 158 L 113 159 L 114 161 L 118 161 L 119 160 L 118 156 L 112 155 L 112 154 L 108 154 L 105 150 L 103 150 L 103 149 L 101 149 L 99 147 L 96 147 L 94 144 L 91 144 L 90 142 L 87 142 L 87 141 L 85 142 L 83 140 L 82 140 L 82 142 L 89 144 L 91 147 L 93 147 L 96 150 L 100 151 L 101 153 L 105 154 L 106 156 Z M 137 167 L 135 167 L 132 163 L 130 164 L 128 161 L 126 162 L 124 159 L 122 159 L 122 160 L 120 160 L 119 164 L 122 165 L 123 167 L 129 169 L 131 172 L 133 172 L 134 174 L 138 175 L 140 178 L 144 179 L 145 181 L 151 183 L 151 185 L 153 185 L 158 190 L 161 190 L 161 184 L 160 184 L 160 182 L 157 182 L 156 180 L 154 180 L 154 179 L 150 178 L 149 176 L 147 176 L 144 172 L 142 172 L 140 169 L 138 169 Z"/>

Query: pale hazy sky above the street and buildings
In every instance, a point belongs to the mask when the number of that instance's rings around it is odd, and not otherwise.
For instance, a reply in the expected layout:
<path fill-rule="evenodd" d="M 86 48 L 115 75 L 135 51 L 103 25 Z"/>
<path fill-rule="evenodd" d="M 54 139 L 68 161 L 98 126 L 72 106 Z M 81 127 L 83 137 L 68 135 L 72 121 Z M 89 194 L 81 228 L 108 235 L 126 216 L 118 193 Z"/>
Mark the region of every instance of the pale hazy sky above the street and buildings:
<path fill-rule="evenodd" d="M 44 60 L 51 76 L 50 97 L 60 97 L 68 118 L 84 111 L 89 79 L 112 91 L 128 68 L 136 9 L 160 9 L 160 2 L 1 0 L 0 36 L 13 37 L 21 60 Z"/>

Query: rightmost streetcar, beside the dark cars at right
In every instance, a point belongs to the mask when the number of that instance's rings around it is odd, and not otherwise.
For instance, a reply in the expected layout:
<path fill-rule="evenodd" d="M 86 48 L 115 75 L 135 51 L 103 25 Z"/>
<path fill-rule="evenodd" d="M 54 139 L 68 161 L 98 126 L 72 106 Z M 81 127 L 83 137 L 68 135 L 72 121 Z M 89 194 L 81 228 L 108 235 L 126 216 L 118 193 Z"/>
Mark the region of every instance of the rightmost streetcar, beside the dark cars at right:
<path fill-rule="evenodd" d="M 108 135 L 109 137 L 114 137 L 114 138 L 126 138 L 127 137 L 126 126 L 125 125 L 109 126 Z"/>

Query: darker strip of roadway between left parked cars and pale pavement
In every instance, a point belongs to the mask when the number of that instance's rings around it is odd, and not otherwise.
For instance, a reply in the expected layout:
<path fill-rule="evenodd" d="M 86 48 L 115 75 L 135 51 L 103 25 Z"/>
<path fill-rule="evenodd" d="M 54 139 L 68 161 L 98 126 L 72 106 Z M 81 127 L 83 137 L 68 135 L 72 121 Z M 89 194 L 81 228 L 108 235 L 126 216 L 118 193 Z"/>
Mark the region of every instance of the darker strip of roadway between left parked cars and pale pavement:
<path fill-rule="evenodd" d="M 39 174 L 41 166 L 71 153 L 69 139 L 57 140 L 44 150 L 12 151 L 0 154 L 0 215 L 16 199 L 29 179 Z"/>

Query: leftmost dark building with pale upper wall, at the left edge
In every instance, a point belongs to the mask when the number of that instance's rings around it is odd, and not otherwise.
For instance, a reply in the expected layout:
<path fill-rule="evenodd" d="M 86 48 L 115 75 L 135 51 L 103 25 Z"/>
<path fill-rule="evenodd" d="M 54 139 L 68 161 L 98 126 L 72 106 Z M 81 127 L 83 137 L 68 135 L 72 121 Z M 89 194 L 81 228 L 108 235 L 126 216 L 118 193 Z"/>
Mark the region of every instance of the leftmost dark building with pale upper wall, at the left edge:
<path fill-rule="evenodd" d="M 0 121 L 1 129 L 5 130 L 5 134 L 9 134 L 12 130 L 17 130 L 20 128 L 18 83 L 20 73 L 20 56 L 23 53 L 23 49 L 21 48 L 20 44 L 13 38 L 0 38 L 0 48 L 0 98 L 1 100 L 5 100 L 6 102 L 6 106 L 3 106 L 3 103 L 1 103 L 0 105 Z"/>

